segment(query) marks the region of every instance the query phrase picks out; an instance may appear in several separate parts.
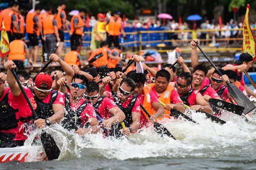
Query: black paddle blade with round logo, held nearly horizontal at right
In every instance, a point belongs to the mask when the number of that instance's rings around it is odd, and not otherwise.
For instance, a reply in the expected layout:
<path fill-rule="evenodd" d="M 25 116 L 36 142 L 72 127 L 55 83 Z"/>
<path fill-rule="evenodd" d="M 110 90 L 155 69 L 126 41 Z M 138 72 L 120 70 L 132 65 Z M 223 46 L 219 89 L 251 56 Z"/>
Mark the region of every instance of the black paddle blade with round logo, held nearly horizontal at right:
<path fill-rule="evenodd" d="M 242 113 L 244 112 L 244 107 L 236 104 L 228 103 L 226 101 L 221 101 L 216 98 L 210 98 L 209 104 L 212 104 L 215 107 L 227 110 L 229 112 L 235 113 L 237 115 L 242 115 Z"/>

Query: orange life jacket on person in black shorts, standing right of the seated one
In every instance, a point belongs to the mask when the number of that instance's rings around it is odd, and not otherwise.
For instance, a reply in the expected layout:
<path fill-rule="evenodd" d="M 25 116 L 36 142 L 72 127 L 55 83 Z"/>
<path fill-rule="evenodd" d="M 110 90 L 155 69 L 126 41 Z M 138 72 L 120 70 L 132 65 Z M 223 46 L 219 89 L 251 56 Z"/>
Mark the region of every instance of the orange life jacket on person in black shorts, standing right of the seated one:
<path fill-rule="evenodd" d="M 28 13 L 26 16 L 26 32 L 29 34 L 36 34 L 39 35 L 40 31 L 36 23 L 33 22 L 33 18 L 37 16 L 38 14 L 35 13 Z M 39 17 L 38 17 L 39 19 Z"/>

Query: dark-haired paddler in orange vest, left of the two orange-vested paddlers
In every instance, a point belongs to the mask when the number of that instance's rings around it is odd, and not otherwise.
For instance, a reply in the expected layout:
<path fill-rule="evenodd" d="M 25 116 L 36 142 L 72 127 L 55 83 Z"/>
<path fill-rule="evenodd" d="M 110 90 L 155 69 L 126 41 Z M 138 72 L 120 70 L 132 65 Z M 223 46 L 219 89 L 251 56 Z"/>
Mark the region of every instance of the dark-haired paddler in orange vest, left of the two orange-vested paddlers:
<path fill-rule="evenodd" d="M 145 86 L 146 76 L 143 73 L 134 73 L 130 78 L 135 82 L 136 87 L 133 91 L 133 95 L 138 95 L 140 104 L 148 111 L 151 115 L 148 115 L 144 111 L 140 114 L 140 126 L 139 129 L 146 126 L 146 123 L 151 121 L 155 122 L 157 118 L 164 115 L 164 110 L 160 102 L 157 100 L 157 96 Z"/>

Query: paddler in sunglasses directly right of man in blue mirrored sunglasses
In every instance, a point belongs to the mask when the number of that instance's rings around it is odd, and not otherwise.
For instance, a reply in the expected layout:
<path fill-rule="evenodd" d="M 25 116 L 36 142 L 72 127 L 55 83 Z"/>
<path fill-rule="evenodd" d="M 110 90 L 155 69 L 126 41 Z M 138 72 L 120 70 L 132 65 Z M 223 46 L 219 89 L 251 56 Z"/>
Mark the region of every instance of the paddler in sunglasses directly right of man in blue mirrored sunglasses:
<path fill-rule="evenodd" d="M 125 114 L 115 102 L 110 98 L 105 98 L 99 95 L 99 84 L 90 81 L 87 84 L 87 90 L 84 93 L 84 98 L 93 105 L 95 112 L 103 120 L 102 125 L 109 129 L 110 134 L 113 136 L 113 124 L 121 123 L 125 119 Z M 110 129 L 111 128 L 111 129 Z"/>

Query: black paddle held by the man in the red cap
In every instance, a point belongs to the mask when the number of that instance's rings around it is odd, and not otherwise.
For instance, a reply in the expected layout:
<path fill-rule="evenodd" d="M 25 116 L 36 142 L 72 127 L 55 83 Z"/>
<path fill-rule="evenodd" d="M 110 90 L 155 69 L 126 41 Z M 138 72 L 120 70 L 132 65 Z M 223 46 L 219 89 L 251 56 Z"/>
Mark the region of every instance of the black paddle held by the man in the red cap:
<path fill-rule="evenodd" d="M 17 77 L 17 75 L 13 69 L 11 69 L 11 72 L 12 72 L 12 75 L 15 78 L 17 84 L 19 85 L 20 91 L 22 92 L 26 102 L 28 103 L 29 108 L 32 111 L 33 117 L 35 118 L 35 120 L 37 120 L 38 115 L 36 114 L 34 108 L 32 107 L 32 104 L 29 101 L 28 96 L 26 95 L 26 92 L 24 91 L 22 85 L 20 84 L 19 78 Z M 54 141 L 54 139 L 52 138 L 52 136 L 50 134 L 43 131 L 43 133 L 41 134 L 41 142 L 43 144 L 44 151 L 45 151 L 49 161 L 57 159 L 59 157 L 61 151 L 59 150 L 56 142 Z"/>

